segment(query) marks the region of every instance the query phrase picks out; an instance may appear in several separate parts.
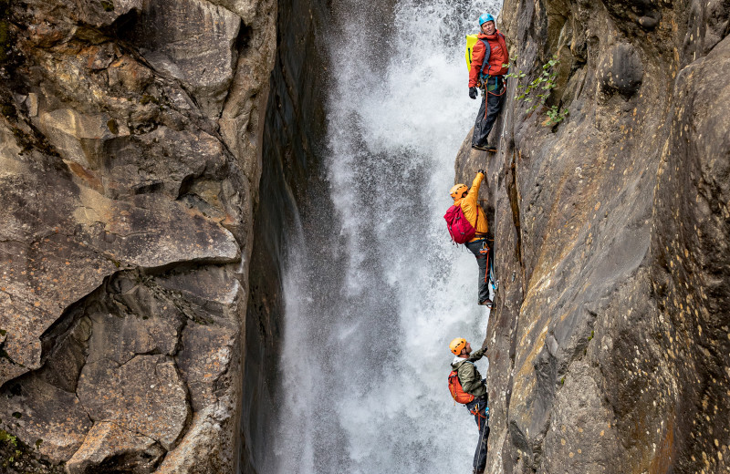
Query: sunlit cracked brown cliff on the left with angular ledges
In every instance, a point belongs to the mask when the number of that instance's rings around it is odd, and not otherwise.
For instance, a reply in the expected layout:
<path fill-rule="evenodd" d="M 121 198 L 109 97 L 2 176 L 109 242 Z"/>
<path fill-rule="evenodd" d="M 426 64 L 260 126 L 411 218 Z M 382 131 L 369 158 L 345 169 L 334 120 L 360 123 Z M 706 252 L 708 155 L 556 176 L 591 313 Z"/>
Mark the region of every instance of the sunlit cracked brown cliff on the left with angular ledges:
<path fill-rule="evenodd" d="M 275 6 L 0 5 L 0 428 L 47 469 L 235 470 Z"/>

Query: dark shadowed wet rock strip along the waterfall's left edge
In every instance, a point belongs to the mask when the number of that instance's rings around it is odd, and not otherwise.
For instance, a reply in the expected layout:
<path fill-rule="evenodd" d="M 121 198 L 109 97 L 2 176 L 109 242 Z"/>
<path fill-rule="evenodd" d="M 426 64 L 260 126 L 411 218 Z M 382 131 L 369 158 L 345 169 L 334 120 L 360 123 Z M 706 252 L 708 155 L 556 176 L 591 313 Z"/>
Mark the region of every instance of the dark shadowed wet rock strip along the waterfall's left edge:
<path fill-rule="evenodd" d="M 271 471 L 276 453 L 270 440 L 279 435 L 278 355 L 284 333 L 282 271 L 297 247 L 297 225 L 320 185 L 325 130 L 322 74 L 328 69 L 322 45 L 329 7 L 312 0 L 278 2 L 279 36 L 266 109 L 264 160 L 255 214 L 255 245 L 246 307 L 244 414 L 241 472 Z"/>

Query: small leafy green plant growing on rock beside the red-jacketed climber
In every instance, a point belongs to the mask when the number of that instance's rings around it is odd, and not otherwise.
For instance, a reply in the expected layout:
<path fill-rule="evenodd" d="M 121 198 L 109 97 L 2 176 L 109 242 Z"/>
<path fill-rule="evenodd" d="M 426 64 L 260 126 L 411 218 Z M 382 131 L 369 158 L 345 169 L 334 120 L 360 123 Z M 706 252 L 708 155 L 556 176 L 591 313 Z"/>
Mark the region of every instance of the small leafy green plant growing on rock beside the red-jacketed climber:
<path fill-rule="evenodd" d="M 531 82 L 524 84 L 522 79 L 527 77 L 527 73 L 522 69 L 516 68 L 516 58 L 517 57 L 515 57 L 515 62 L 513 62 L 512 67 L 516 69 L 517 72 L 509 73 L 506 77 L 516 78 L 517 85 L 515 100 L 530 103 L 530 107 L 527 108 L 527 113 L 529 114 L 537 110 L 537 108 L 544 107 L 547 98 L 550 97 L 552 89 L 558 86 L 557 79 L 560 60 L 557 56 L 551 57 L 547 63 L 542 65 L 542 70 L 539 76 Z M 547 120 L 545 125 L 556 125 L 568 116 L 568 109 L 566 108 L 560 112 L 558 106 L 553 106 L 552 108 L 547 109 L 546 115 Z"/>

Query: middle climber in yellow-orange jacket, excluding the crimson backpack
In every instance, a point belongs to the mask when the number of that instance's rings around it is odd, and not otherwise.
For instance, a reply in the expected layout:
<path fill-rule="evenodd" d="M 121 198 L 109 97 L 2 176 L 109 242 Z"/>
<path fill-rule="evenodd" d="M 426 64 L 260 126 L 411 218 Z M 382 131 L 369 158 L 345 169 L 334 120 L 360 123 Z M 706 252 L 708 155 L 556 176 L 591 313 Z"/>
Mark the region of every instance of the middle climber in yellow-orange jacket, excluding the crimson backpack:
<path fill-rule="evenodd" d="M 464 217 L 476 230 L 474 239 L 466 242 L 466 248 L 474 253 L 476 263 L 479 265 L 479 304 L 491 308 L 492 300 L 489 299 L 489 281 L 487 279 L 487 265 L 489 263 L 489 247 L 486 244 L 486 233 L 489 226 L 486 223 L 485 212 L 477 208 L 479 202 L 479 187 L 482 180 L 485 179 L 485 170 L 476 171 L 476 176 L 472 182 L 472 187 L 467 188 L 465 184 L 456 184 L 451 189 L 451 197 L 454 199 L 454 206 L 460 206 L 464 212 Z"/>

